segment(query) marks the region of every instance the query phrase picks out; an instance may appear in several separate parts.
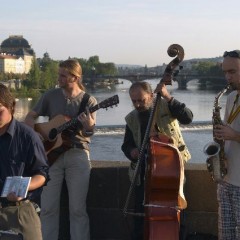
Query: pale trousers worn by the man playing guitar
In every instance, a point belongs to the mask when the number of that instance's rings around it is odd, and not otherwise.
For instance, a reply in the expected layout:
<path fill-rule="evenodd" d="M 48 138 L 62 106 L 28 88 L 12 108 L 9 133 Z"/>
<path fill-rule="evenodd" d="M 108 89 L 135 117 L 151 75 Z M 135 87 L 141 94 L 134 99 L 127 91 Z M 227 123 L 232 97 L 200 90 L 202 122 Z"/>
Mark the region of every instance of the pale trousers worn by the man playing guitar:
<path fill-rule="evenodd" d="M 41 195 L 42 234 L 44 240 L 58 240 L 60 195 L 65 178 L 69 196 L 71 240 L 90 240 L 86 199 L 91 164 L 89 151 L 71 148 L 50 167 L 50 181 Z"/>

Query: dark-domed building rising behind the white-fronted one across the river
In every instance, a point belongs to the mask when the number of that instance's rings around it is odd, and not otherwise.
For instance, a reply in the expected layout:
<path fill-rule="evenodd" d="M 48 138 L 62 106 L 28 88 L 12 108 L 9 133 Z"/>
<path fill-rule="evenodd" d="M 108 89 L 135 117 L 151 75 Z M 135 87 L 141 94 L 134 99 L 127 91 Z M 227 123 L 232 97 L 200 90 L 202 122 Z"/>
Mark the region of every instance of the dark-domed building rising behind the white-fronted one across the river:
<path fill-rule="evenodd" d="M 28 41 L 22 35 L 10 35 L 0 46 L 1 52 L 17 57 L 21 57 L 25 63 L 25 73 L 31 69 L 32 60 L 35 53 Z"/>

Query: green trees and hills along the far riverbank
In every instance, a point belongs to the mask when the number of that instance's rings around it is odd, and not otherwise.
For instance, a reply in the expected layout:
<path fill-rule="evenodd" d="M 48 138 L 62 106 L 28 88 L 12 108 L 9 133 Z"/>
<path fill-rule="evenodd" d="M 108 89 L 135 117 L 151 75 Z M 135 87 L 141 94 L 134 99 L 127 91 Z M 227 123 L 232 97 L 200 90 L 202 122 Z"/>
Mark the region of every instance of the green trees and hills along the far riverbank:
<path fill-rule="evenodd" d="M 88 59 L 77 58 L 82 66 L 83 70 L 83 83 L 92 84 L 93 80 L 97 81 L 110 81 L 106 79 L 107 76 L 117 76 L 124 74 L 146 74 L 153 73 L 159 74 L 159 71 L 163 71 L 166 65 L 148 68 L 139 65 L 115 65 L 112 62 L 102 63 L 99 56 L 91 56 Z M 16 95 L 35 95 L 39 92 L 43 92 L 46 89 L 53 88 L 57 85 L 58 79 L 58 65 L 60 61 L 50 58 L 48 53 L 43 55 L 43 58 L 34 59 L 32 62 L 31 70 L 28 74 L 11 74 L 0 73 L 0 81 L 7 81 L 9 79 L 20 79 L 22 81 L 22 87 L 16 89 Z M 191 59 L 183 61 L 183 64 L 192 62 L 191 71 L 201 76 L 213 76 L 210 81 L 224 82 L 223 73 L 221 70 L 222 57 L 217 58 L 205 58 L 205 59 Z M 217 79 L 217 80 L 216 80 Z M 111 80 L 112 81 L 112 80 Z"/>

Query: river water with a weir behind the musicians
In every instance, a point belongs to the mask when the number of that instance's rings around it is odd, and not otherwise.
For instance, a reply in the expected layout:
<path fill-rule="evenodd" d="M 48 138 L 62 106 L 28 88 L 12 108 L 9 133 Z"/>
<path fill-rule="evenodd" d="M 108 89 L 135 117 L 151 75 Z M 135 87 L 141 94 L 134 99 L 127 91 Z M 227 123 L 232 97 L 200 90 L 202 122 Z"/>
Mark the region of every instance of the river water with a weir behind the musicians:
<path fill-rule="evenodd" d="M 98 102 L 101 102 L 115 94 L 119 96 L 119 104 L 107 110 L 97 111 L 97 129 L 92 137 L 91 159 L 108 161 L 128 161 L 121 151 L 124 137 L 124 117 L 133 109 L 128 90 L 131 83 L 121 80 L 122 84 L 107 86 L 98 89 L 88 89 Z M 147 80 L 156 87 L 159 79 Z M 181 126 L 185 142 L 191 152 L 191 162 L 205 163 L 206 156 L 203 147 L 212 141 L 212 110 L 215 97 L 220 90 L 199 90 L 197 80 L 188 83 L 187 90 L 178 90 L 177 83 L 168 86 L 169 92 L 177 100 L 184 102 L 193 112 L 193 123 Z M 226 103 L 226 95 L 220 99 L 223 115 Z M 26 113 L 35 104 L 36 99 L 19 99 L 17 101 L 15 117 L 24 119 Z"/>

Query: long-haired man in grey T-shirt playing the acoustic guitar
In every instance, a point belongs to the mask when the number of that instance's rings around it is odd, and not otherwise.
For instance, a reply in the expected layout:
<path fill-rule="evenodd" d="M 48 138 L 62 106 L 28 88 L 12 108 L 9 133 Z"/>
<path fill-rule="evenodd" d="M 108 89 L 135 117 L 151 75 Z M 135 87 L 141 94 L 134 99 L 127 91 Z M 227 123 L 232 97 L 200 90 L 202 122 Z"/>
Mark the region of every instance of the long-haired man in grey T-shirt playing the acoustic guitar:
<path fill-rule="evenodd" d="M 25 122 L 34 126 L 38 116 L 67 115 L 77 117 L 79 124 L 66 130 L 60 155 L 50 167 L 49 184 L 44 187 L 41 198 L 42 232 L 44 240 L 57 240 L 59 234 L 60 193 L 65 178 L 69 195 L 70 235 L 72 240 L 89 240 L 89 218 L 86 198 L 90 177 L 89 143 L 96 123 L 96 114 L 88 110 L 79 115 L 84 99 L 82 68 L 77 60 L 69 59 L 59 64 L 59 88 L 48 90 L 30 111 Z M 86 101 L 86 109 L 97 103 L 93 96 Z M 85 108 L 84 108 L 85 110 Z M 70 147 L 70 148 L 69 148 Z M 68 149 L 66 150 L 65 149 Z"/>

